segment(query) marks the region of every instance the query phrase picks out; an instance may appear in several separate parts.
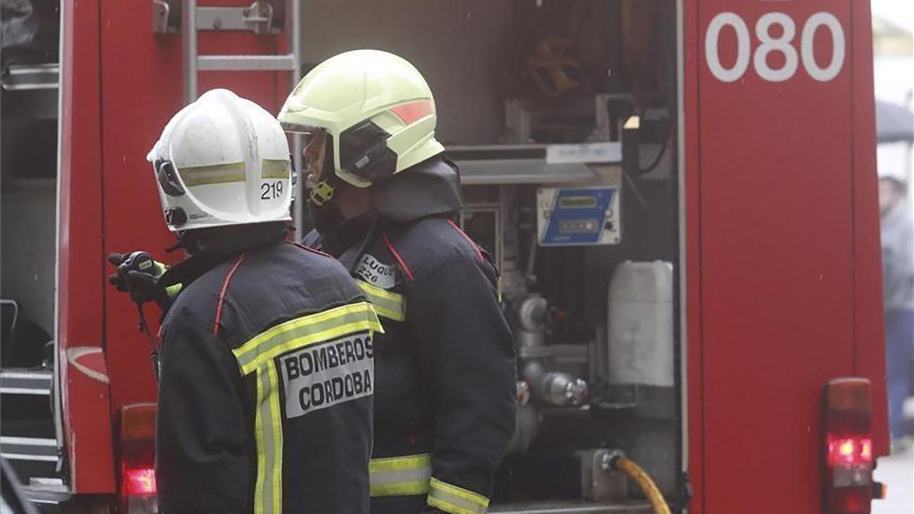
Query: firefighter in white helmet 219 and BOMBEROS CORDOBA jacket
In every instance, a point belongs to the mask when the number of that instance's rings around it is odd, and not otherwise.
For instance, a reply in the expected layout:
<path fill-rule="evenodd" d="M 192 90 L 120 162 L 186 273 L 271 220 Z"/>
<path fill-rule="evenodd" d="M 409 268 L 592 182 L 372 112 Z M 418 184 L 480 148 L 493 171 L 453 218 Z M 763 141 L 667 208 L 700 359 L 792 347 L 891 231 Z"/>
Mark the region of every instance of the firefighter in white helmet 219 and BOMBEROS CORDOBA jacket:
<path fill-rule="evenodd" d="M 339 262 L 284 241 L 289 157 L 275 118 L 226 90 L 175 114 L 148 155 L 192 252 L 161 276 L 119 273 L 132 295 L 182 284 L 161 330 L 165 514 L 368 510 L 381 327 Z"/>

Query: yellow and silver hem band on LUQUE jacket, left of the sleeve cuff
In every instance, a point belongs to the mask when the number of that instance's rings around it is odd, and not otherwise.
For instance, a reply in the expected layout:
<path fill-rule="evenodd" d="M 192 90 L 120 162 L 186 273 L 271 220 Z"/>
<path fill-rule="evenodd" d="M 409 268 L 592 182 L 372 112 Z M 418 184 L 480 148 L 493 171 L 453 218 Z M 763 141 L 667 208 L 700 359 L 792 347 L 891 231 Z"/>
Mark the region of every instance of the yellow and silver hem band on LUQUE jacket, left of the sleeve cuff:
<path fill-rule="evenodd" d="M 424 495 L 429 492 L 431 455 L 371 459 L 368 477 L 372 497 Z"/>

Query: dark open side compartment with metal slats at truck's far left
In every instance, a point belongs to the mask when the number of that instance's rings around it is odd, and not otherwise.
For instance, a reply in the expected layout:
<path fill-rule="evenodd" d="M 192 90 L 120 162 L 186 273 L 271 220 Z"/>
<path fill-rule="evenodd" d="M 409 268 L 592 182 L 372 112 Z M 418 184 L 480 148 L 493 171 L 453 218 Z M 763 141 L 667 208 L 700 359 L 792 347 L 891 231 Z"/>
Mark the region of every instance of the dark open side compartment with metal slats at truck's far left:
<path fill-rule="evenodd" d="M 0 456 L 65 490 L 55 423 L 59 3 L 4 5 L 0 59 Z"/>

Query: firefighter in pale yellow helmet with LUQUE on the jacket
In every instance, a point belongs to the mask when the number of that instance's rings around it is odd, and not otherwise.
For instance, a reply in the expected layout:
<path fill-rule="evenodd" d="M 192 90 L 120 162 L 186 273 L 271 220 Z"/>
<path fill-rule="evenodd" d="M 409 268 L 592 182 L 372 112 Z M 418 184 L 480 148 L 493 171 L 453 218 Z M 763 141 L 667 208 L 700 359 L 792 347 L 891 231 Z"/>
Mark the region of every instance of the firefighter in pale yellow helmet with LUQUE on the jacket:
<path fill-rule="evenodd" d="M 282 127 L 306 139 L 316 231 L 375 305 L 374 514 L 484 512 L 515 423 L 515 349 L 488 254 L 454 222 L 457 167 L 407 60 L 377 50 L 319 64 Z"/>

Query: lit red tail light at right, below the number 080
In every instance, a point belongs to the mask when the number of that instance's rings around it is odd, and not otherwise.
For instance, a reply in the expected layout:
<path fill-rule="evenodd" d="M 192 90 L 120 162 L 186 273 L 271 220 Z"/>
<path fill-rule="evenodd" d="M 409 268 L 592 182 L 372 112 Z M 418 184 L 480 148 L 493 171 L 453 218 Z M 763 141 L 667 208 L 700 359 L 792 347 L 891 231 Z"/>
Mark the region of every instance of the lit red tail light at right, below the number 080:
<path fill-rule="evenodd" d="M 869 380 L 829 380 L 823 394 L 823 507 L 826 514 L 868 514 L 873 498 Z"/>

